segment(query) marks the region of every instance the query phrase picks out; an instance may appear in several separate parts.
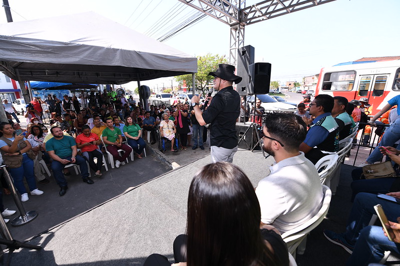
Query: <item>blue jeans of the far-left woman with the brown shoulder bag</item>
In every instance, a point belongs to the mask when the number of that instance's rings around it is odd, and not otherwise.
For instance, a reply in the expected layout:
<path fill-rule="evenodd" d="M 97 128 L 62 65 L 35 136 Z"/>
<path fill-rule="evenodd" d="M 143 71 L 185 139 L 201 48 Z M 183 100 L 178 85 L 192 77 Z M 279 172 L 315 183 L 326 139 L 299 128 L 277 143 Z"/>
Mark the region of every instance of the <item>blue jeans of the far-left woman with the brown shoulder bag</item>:
<path fill-rule="evenodd" d="M 14 179 L 14 186 L 20 194 L 27 193 L 24 186 L 24 176 L 30 191 L 37 189 L 34 173 L 34 161 L 29 158 L 28 154 L 23 155 L 22 165 L 18 168 L 9 168 L 9 172 Z"/>

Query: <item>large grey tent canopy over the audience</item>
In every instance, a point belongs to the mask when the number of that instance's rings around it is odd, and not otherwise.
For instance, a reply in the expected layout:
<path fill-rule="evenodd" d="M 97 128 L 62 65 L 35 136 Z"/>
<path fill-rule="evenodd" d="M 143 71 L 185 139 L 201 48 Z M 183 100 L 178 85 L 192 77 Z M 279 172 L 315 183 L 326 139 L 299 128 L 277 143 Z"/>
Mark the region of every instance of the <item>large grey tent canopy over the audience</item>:
<path fill-rule="evenodd" d="M 197 72 L 197 58 L 94 12 L 0 24 L 16 80 L 123 84 Z"/>

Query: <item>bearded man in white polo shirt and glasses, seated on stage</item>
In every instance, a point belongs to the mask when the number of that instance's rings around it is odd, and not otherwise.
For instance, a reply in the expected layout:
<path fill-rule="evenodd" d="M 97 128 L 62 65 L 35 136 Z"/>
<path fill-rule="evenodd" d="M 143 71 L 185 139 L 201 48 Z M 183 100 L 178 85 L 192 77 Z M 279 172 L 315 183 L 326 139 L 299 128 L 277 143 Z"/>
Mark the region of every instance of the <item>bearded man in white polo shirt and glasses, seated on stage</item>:
<path fill-rule="evenodd" d="M 307 127 L 292 113 L 268 113 L 261 134 L 263 149 L 276 164 L 256 188 L 261 222 L 282 234 L 294 229 L 321 208 L 323 192 L 315 166 L 299 151 Z"/>

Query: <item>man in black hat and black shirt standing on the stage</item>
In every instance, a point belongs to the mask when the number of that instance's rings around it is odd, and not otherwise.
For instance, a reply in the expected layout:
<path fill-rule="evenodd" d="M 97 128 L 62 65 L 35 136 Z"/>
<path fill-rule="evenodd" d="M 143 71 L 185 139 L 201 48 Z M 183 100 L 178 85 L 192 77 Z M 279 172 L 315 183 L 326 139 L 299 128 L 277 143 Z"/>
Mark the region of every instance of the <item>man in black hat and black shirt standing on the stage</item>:
<path fill-rule="evenodd" d="M 217 71 L 208 75 L 214 76 L 214 89 L 218 91 L 207 110 L 202 112 L 198 106 L 199 96 L 193 96 L 192 105 L 196 119 L 201 126 L 211 123 L 210 143 L 211 160 L 215 162 L 233 161 L 237 151 L 236 119 L 240 114 L 240 96 L 232 87 L 242 78 L 234 74 L 235 67 L 219 64 Z"/>

